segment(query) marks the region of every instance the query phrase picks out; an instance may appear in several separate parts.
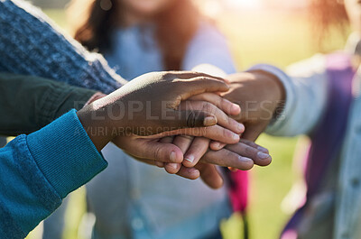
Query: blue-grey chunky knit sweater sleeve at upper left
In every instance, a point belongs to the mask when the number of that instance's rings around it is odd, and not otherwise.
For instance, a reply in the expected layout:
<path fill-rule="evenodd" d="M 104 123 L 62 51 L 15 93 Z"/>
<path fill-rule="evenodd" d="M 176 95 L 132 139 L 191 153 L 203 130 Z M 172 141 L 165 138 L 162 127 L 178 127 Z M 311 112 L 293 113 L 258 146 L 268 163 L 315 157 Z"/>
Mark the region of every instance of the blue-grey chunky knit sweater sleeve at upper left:
<path fill-rule="evenodd" d="M 22 0 L 0 0 L 0 71 L 111 93 L 125 80 Z"/>

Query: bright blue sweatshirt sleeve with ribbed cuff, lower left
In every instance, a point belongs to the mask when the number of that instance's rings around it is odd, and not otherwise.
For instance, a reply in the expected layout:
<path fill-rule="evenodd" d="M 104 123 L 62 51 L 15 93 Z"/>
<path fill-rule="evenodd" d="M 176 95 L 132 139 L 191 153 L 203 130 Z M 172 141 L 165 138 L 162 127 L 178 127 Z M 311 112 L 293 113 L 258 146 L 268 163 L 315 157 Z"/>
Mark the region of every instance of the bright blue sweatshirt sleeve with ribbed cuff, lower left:
<path fill-rule="evenodd" d="M 106 168 L 75 110 L 0 149 L 0 237 L 24 238 Z"/>

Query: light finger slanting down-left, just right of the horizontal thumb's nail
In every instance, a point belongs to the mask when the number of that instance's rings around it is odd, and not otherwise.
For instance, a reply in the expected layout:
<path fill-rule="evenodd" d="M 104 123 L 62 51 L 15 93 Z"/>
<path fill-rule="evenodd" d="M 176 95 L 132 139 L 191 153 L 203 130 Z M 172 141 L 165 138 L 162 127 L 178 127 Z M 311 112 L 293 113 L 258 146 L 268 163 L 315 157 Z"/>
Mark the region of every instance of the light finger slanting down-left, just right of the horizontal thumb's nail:
<path fill-rule="evenodd" d="M 190 144 L 190 148 L 184 153 L 183 165 L 186 167 L 194 167 L 200 158 L 208 151 L 209 139 L 204 137 L 196 137 Z"/>

